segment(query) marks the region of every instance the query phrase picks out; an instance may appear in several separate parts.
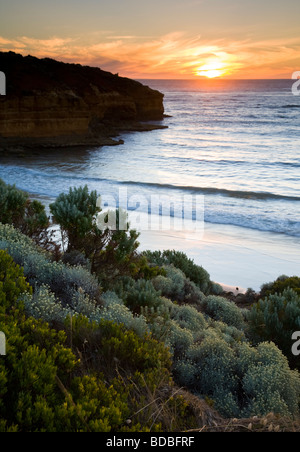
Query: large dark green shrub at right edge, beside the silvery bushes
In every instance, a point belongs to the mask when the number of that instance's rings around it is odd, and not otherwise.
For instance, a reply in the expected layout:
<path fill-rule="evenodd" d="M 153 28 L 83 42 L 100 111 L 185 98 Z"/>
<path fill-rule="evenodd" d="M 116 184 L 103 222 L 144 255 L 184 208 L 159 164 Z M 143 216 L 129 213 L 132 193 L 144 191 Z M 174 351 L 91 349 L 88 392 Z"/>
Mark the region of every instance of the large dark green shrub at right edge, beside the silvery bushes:
<path fill-rule="evenodd" d="M 300 369 L 298 358 L 291 352 L 292 334 L 300 330 L 300 296 L 293 289 L 259 300 L 248 315 L 251 337 L 256 341 L 273 341 Z"/>

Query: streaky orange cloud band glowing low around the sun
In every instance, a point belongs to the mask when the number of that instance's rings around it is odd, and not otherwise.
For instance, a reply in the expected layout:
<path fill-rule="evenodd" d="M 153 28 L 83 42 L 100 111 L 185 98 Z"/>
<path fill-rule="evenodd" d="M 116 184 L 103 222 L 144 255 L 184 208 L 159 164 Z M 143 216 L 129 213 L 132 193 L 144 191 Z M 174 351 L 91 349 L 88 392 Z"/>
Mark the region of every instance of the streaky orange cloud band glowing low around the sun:
<path fill-rule="evenodd" d="M 222 63 L 226 76 L 236 78 L 289 78 L 300 69 L 300 39 L 296 38 L 207 41 L 181 31 L 137 37 L 110 30 L 73 38 L 0 37 L 0 49 L 99 66 L 132 78 L 191 78 L 199 67 L 215 62 Z"/>

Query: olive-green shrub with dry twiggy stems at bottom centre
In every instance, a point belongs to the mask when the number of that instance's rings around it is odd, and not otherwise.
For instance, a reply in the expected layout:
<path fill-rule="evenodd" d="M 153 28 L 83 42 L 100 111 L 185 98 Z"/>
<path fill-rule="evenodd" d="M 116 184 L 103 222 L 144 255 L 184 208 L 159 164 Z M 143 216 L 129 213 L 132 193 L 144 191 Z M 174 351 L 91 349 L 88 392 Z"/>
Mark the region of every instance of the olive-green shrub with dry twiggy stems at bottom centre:
<path fill-rule="evenodd" d="M 72 331 L 82 367 L 88 372 L 91 367 L 101 371 L 103 379 L 112 382 L 110 387 L 126 402 L 125 419 L 130 420 L 130 427 L 123 417 L 119 431 L 176 431 L 197 422 L 188 414 L 189 402 L 177 395 L 170 374 L 170 353 L 161 342 L 149 334 L 138 337 L 123 325 L 107 321 L 90 324 L 80 317 L 73 319 Z"/>

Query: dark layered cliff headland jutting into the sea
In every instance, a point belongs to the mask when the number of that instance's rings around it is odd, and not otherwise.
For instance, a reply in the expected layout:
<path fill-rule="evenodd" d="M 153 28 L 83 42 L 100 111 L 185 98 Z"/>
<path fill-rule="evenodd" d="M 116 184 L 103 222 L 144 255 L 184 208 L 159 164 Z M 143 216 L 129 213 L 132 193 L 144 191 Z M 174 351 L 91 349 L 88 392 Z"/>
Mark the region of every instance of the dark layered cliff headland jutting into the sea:
<path fill-rule="evenodd" d="M 163 119 L 163 94 L 98 68 L 0 52 L 0 144 L 110 144 Z"/>

